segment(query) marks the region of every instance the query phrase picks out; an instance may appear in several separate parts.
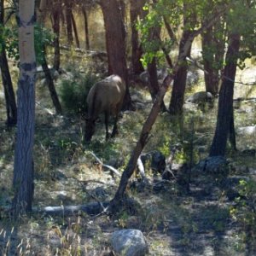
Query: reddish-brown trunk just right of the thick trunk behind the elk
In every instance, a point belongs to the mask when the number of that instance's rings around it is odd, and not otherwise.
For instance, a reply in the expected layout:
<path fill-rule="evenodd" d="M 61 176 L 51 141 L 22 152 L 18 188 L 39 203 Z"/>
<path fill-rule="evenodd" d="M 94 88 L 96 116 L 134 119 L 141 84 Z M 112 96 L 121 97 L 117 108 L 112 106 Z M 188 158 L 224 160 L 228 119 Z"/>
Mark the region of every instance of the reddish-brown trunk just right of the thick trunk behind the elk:
<path fill-rule="evenodd" d="M 143 55 L 143 48 L 139 43 L 138 32 L 136 28 L 137 17 L 143 12 L 143 5 L 146 1 L 130 0 L 131 17 L 131 66 L 134 74 L 144 71 L 143 64 L 140 61 Z"/>

